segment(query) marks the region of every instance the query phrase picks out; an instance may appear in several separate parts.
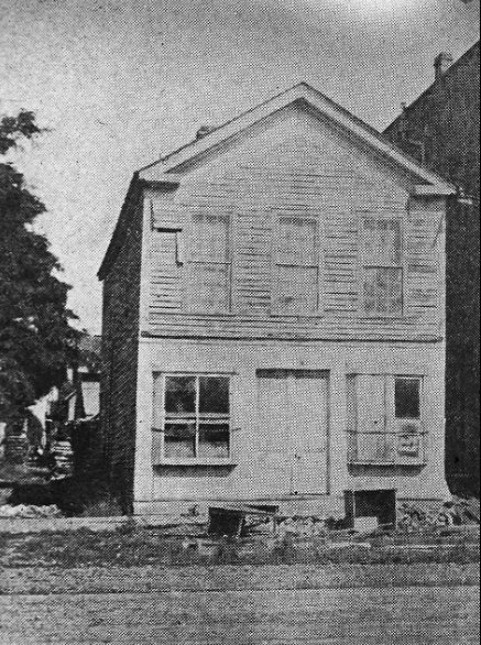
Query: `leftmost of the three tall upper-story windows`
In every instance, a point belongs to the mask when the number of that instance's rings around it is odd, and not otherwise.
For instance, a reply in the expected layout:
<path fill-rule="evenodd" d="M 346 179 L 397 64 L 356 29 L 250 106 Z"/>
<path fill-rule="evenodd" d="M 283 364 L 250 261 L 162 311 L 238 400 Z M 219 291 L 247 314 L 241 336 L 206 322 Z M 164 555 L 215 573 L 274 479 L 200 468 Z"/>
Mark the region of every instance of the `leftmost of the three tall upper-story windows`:
<path fill-rule="evenodd" d="M 231 251 L 228 214 L 192 217 L 189 308 L 203 314 L 230 310 Z"/>

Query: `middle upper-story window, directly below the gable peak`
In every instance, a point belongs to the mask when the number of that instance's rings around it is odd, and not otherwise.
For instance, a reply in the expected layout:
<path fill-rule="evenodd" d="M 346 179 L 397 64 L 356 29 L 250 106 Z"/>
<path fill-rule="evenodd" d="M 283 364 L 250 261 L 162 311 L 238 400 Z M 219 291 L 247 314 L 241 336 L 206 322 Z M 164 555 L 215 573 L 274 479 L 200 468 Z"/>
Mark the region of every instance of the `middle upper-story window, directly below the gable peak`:
<path fill-rule="evenodd" d="M 319 309 L 318 222 L 282 216 L 275 227 L 273 309 L 277 315 L 309 316 Z"/>

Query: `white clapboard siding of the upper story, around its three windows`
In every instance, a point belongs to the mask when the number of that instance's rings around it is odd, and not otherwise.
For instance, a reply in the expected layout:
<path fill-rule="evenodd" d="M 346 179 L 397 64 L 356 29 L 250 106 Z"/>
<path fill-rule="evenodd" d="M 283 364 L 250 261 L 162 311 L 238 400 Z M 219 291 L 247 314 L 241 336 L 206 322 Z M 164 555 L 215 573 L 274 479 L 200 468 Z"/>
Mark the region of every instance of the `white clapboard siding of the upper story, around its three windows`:
<path fill-rule="evenodd" d="M 309 128 L 311 136 L 306 135 Z M 193 238 L 193 218 L 225 215 L 229 219 L 228 310 L 221 311 L 220 303 L 217 311 L 203 316 L 201 306 L 193 299 L 195 294 L 188 293 L 189 284 L 198 283 L 182 267 L 167 270 L 157 253 L 152 264 L 149 334 L 435 339 L 439 329 L 439 250 L 433 253 L 429 244 L 436 234 L 437 215 L 433 217 L 429 208 L 409 211 L 408 190 L 402 181 L 339 134 L 323 130 L 318 123 L 303 123 L 297 132 L 295 127 L 286 132 L 278 141 L 270 141 L 266 134 L 249 150 L 212 166 L 207 163 L 205 171 L 196 171 L 170 195 L 172 226 L 182 222 L 187 259 L 194 259 L 199 244 Z M 156 207 L 156 221 L 165 221 L 165 204 Z M 403 315 L 387 319 L 364 316 L 360 300 L 360 227 L 363 217 L 380 216 L 402 218 L 407 254 Z M 318 282 L 318 303 L 316 307 L 306 303 L 300 315 L 275 307 L 276 227 L 283 217 L 311 218 L 318 231 L 317 276 L 309 274 L 313 285 Z M 223 262 L 218 251 L 225 237 L 222 232 L 211 244 L 214 262 Z M 203 242 L 205 251 L 207 247 Z"/>

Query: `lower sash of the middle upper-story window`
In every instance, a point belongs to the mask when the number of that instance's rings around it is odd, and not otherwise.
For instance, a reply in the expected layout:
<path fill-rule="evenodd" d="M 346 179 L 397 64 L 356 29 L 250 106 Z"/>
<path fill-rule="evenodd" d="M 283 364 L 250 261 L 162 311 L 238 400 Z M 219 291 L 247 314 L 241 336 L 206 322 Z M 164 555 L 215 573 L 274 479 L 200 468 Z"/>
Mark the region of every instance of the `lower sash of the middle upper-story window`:
<path fill-rule="evenodd" d="M 277 266 L 278 314 L 307 316 L 317 311 L 317 269 Z"/>

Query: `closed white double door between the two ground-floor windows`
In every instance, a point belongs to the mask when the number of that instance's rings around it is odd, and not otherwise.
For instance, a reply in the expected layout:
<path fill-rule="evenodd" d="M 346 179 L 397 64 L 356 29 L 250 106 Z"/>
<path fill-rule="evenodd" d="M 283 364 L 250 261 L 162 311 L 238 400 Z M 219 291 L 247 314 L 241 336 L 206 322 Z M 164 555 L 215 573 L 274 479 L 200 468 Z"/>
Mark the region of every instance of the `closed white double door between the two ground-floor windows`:
<path fill-rule="evenodd" d="M 259 370 L 256 376 L 261 467 L 276 471 L 280 494 L 326 493 L 328 372 Z"/>

